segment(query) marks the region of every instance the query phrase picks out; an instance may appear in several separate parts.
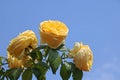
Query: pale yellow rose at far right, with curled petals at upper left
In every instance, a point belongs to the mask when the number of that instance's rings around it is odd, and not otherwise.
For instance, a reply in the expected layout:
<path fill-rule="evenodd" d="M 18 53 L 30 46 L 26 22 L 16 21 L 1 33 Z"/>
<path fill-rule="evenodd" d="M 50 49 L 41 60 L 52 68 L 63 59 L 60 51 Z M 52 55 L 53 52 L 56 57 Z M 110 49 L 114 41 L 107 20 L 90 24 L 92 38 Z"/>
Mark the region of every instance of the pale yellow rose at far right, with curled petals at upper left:
<path fill-rule="evenodd" d="M 74 59 L 75 66 L 83 71 L 89 71 L 93 64 L 93 54 L 88 45 L 76 42 L 69 53 Z"/>

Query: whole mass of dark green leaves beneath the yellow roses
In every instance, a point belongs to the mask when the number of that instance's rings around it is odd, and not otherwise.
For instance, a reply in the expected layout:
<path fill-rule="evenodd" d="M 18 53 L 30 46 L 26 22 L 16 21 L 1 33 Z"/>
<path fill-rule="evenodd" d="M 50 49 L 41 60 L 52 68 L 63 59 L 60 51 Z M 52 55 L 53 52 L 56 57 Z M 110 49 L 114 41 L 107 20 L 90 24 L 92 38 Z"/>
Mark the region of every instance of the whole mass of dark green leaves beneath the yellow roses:
<path fill-rule="evenodd" d="M 56 74 L 58 68 L 60 68 L 62 80 L 69 80 L 70 77 L 73 80 L 82 80 L 82 71 L 76 68 L 73 62 L 67 61 L 69 59 L 68 53 L 69 49 L 65 44 L 57 49 L 52 49 L 48 45 L 40 45 L 26 54 L 32 58 L 28 61 L 30 66 L 12 69 L 5 69 L 7 59 L 0 57 L 0 80 L 18 80 L 20 76 L 22 80 L 32 80 L 33 75 L 37 80 L 46 80 L 47 71 L 52 70 L 53 74 Z"/>

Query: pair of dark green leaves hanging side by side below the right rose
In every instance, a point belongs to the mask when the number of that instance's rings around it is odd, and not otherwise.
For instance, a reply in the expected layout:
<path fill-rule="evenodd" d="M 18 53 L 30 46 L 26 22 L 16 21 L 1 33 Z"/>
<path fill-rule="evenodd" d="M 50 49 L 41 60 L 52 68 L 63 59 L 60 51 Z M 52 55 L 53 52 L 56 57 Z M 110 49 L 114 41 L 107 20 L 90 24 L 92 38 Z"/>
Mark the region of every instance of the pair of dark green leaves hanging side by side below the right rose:
<path fill-rule="evenodd" d="M 83 72 L 76 68 L 72 62 L 64 62 L 60 69 L 60 76 L 63 80 L 69 80 L 71 74 L 73 80 L 82 80 Z"/>

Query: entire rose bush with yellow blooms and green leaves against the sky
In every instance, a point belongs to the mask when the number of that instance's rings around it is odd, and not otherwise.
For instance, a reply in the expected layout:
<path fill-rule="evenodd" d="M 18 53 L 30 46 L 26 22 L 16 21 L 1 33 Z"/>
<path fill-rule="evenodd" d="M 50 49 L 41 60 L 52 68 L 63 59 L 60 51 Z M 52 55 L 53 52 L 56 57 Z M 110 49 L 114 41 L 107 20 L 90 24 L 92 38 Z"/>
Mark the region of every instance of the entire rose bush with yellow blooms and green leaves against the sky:
<path fill-rule="evenodd" d="M 90 71 L 93 54 L 88 45 L 76 42 L 73 49 L 65 45 L 68 27 L 61 21 L 40 23 L 40 45 L 32 30 L 26 30 L 13 38 L 7 48 L 7 58 L 0 57 L 0 80 L 46 80 L 51 70 L 60 68 L 62 80 L 82 80 L 83 71 Z M 73 59 L 71 61 L 70 59 Z M 6 65 L 9 67 L 6 69 Z"/>

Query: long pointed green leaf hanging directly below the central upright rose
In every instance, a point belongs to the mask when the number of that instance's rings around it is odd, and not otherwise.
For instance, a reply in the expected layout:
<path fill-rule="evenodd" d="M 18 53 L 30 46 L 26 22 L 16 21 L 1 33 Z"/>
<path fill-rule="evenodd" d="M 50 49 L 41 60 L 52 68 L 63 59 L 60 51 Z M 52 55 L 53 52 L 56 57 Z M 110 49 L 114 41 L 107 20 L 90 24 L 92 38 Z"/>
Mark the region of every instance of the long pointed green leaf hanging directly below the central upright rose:
<path fill-rule="evenodd" d="M 54 49 L 49 49 L 49 57 L 48 57 L 48 61 L 50 62 L 50 66 L 52 69 L 53 74 L 56 73 L 59 65 L 61 64 L 61 57 L 58 54 L 57 50 Z"/>

